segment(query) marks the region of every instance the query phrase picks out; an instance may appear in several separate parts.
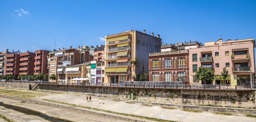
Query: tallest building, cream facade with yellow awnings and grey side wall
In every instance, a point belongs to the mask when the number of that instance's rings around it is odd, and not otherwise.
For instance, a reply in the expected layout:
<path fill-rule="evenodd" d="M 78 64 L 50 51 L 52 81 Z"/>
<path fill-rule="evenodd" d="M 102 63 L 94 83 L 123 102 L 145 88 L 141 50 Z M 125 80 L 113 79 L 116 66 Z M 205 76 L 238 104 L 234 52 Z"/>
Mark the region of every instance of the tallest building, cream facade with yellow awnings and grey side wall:
<path fill-rule="evenodd" d="M 129 30 L 105 39 L 105 83 L 135 81 L 136 75 L 147 73 L 148 54 L 159 52 L 162 43 L 159 35 L 146 34 L 145 30 Z"/>

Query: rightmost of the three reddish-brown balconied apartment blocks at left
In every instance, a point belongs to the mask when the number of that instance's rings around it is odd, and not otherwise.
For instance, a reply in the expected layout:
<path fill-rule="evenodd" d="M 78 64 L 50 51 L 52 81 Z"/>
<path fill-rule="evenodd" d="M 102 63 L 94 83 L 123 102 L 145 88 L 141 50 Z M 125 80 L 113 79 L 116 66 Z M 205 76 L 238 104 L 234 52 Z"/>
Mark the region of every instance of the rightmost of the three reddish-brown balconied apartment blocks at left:
<path fill-rule="evenodd" d="M 49 51 L 38 50 L 35 51 L 35 62 L 34 62 L 34 75 L 39 73 L 47 74 L 47 55 Z"/>

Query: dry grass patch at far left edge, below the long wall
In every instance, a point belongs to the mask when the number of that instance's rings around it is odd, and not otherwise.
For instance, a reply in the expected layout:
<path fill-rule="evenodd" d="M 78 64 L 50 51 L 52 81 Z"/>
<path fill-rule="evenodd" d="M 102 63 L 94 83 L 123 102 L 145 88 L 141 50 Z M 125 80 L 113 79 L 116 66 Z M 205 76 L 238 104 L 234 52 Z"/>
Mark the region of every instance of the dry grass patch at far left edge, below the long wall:
<path fill-rule="evenodd" d="M 21 98 L 35 98 L 46 96 L 47 94 L 35 93 L 35 92 L 24 92 L 24 91 L 15 91 L 15 90 L 3 90 L 0 89 L 0 94 L 21 97 Z"/>

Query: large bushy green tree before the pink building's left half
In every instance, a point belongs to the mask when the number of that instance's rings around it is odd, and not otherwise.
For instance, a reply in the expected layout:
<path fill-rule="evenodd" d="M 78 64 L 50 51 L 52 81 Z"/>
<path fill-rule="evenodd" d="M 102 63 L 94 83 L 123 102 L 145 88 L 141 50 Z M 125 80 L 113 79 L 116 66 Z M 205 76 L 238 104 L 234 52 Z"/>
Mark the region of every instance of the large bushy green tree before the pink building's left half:
<path fill-rule="evenodd" d="M 214 80 L 214 71 L 212 68 L 198 67 L 195 74 L 195 79 L 206 82 Z"/>

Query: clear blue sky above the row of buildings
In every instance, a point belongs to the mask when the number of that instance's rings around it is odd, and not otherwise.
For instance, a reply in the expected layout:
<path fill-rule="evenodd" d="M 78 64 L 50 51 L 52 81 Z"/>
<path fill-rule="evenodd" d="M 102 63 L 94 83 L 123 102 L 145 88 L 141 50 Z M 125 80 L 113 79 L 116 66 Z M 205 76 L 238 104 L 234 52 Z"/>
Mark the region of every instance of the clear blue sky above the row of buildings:
<path fill-rule="evenodd" d="M 164 43 L 256 36 L 256 0 L 0 0 L 0 51 L 105 45 L 127 30 Z"/>

